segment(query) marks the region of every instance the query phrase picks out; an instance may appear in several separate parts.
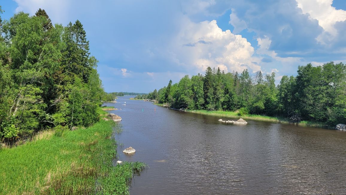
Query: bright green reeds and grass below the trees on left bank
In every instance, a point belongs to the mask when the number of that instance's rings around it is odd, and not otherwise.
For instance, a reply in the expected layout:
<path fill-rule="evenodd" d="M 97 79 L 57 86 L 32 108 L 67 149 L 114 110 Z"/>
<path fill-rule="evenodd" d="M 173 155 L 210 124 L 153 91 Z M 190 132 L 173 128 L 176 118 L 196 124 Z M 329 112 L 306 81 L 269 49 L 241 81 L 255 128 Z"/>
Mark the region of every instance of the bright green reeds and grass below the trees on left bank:
<path fill-rule="evenodd" d="M 104 113 L 104 111 L 100 111 Z M 146 164 L 113 166 L 113 121 L 74 131 L 44 131 L 33 141 L 0 150 L 0 194 L 129 194 Z"/>

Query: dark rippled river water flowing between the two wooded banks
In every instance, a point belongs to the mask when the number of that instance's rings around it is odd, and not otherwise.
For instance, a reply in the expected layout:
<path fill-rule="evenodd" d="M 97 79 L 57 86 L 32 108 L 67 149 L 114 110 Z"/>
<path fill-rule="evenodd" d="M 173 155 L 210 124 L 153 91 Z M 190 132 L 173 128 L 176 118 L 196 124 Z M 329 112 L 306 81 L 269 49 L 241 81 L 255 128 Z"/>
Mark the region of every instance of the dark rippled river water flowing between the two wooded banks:
<path fill-rule="evenodd" d="M 346 132 L 225 124 L 129 97 L 105 105 L 121 108 L 110 111 L 124 127 L 119 160 L 149 166 L 132 180 L 132 195 L 346 194 Z M 136 152 L 122 153 L 129 146 Z"/>

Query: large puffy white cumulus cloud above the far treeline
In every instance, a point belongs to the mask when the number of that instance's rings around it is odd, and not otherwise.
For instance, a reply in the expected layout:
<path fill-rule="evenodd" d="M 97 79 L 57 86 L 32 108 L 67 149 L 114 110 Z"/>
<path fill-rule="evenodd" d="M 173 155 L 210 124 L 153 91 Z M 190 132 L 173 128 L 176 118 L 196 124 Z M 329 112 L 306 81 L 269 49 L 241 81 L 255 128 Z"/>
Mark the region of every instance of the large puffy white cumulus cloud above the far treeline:
<path fill-rule="evenodd" d="M 221 70 L 252 71 L 261 69 L 253 62 L 254 48 L 242 35 L 230 30 L 222 31 L 216 20 L 194 23 L 188 20 L 174 39 L 176 58 L 185 66 L 192 66 L 201 72 L 210 67 Z"/>

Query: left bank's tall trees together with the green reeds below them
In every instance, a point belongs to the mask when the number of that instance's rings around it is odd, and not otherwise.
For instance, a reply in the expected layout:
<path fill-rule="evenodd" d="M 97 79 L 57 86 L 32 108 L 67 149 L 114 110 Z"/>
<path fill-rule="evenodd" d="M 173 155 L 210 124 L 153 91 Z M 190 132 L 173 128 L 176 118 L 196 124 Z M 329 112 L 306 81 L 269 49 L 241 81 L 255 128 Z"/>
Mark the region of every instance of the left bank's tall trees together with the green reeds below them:
<path fill-rule="evenodd" d="M 146 165 L 113 166 L 120 127 L 100 121 L 107 93 L 83 25 L 39 9 L 0 16 L 0 32 L 0 194 L 129 194 Z"/>

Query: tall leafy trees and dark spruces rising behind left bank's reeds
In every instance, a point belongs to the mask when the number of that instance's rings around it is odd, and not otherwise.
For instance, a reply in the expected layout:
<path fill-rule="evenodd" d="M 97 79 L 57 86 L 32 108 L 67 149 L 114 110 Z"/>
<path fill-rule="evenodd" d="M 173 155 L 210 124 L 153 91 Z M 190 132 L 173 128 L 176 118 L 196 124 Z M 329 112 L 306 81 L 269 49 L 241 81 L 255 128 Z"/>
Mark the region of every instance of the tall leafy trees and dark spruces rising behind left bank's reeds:
<path fill-rule="evenodd" d="M 79 20 L 52 25 L 46 12 L 0 24 L 0 141 L 99 120 L 104 93 Z"/>

